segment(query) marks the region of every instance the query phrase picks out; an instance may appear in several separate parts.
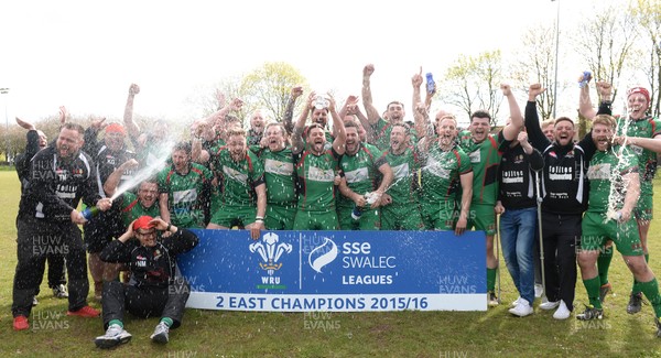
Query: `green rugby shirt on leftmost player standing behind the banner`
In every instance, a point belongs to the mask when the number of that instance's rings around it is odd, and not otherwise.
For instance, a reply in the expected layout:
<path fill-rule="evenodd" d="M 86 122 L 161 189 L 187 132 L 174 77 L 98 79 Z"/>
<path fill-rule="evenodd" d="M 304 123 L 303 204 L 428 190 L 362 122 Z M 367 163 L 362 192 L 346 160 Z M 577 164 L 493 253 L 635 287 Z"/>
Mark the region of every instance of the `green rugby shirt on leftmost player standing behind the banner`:
<path fill-rule="evenodd" d="M 204 205 L 208 197 L 212 172 L 191 163 L 186 175 L 167 166 L 159 173 L 159 191 L 167 193 L 167 208 L 173 225 L 183 228 L 204 227 Z"/>

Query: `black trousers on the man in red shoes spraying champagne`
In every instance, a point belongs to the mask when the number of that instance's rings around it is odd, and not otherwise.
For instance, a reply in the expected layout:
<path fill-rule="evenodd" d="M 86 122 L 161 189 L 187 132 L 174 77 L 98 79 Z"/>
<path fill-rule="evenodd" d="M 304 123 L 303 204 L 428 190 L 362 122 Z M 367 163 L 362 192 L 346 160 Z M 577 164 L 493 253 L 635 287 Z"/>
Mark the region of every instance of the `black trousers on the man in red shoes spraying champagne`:
<path fill-rule="evenodd" d="M 17 220 L 17 271 L 13 280 L 13 316 L 30 316 L 32 300 L 43 280 L 46 257 L 64 256 L 68 275 L 68 310 L 87 305 L 89 282 L 87 259 L 80 229 L 73 223 L 46 223 L 37 219 Z"/>

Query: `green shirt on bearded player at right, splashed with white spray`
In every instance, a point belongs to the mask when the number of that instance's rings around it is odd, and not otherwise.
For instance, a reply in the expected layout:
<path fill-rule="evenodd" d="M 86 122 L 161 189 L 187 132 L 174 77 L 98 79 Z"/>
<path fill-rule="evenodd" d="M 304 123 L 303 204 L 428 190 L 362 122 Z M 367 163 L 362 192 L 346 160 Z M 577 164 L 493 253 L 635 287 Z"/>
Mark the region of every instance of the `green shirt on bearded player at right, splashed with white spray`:
<path fill-rule="evenodd" d="M 619 151 L 619 147 L 615 148 L 615 151 Z M 627 188 L 627 184 L 622 182 L 622 176 L 637 173 L 638 170 L 637 155 L 632 151 L 625 149 L 621 158 L 616 156 L 610 150 L 606 152 L 597 151 L 589 161 L 589 167 L 587 169 L 587 178 L 589 180 L 587 210 L 606 213 L 609 200 L 615 202 L 614 209 L 620 209 L 625 204 Z M 611 185 L 615 185 L 613 194 Z"/>

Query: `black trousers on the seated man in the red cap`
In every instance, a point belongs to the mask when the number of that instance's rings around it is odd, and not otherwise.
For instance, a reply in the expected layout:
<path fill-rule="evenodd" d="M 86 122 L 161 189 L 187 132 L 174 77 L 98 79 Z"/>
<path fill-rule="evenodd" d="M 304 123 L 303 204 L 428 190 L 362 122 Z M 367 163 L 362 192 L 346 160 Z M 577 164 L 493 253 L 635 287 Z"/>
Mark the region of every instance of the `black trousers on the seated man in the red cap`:
<path fill-rule="evenodd" d="M 191 286 L 183 278 L 167 288 L 137 288 L 118 281 L 104 282 L 104 329 L 112 319 L 123 322 L 124 310 L 138 317 L 169 317 L 172 328 L 182 324 Z"/>

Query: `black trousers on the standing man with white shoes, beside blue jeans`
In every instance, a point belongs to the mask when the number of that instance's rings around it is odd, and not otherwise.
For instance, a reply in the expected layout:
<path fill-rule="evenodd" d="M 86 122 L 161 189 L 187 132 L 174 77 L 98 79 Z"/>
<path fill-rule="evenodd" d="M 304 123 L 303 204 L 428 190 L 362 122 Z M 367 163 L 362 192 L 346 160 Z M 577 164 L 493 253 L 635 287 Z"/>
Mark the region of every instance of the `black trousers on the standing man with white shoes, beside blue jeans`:
<path fill-rule="evenodd" d="M 574 310 L 582 217 L 542 213 L 546 297 L 552 302 L 564 301 L 570 311 Z"/>

